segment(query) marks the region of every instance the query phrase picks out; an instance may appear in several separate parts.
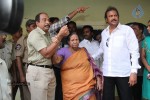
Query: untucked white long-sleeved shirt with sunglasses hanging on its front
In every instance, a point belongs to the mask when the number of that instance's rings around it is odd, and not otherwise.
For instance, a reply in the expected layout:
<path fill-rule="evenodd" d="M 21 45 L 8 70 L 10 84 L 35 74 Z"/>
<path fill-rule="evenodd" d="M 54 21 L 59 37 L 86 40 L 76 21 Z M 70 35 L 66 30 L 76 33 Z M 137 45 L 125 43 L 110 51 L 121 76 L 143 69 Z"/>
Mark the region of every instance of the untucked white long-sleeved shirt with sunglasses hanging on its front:
<path fill-rule="evenodd" d="M 98 59 L 102 53 L 104 76 L 127 77 L 141 68 L 138 64 L 138 40 L 129 26 L 118 24 L 111 34 L 108 26 L 102 32 L 100 49 L 92 57 Z"/>

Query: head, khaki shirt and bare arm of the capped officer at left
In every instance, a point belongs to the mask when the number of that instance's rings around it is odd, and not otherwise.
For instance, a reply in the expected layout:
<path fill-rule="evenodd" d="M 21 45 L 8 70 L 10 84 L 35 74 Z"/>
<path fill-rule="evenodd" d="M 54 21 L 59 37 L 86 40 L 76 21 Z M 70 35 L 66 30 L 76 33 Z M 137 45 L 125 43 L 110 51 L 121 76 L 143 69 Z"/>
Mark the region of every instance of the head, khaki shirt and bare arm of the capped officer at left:
<path fill-rule="evenodd" d="M 27 32 L 29 33 L 35 28 L 36 28 L 35 20 L 29 19 L 26 22 Z M 16 59 L 17 59 L 17 66 L 18 66 L 19 75 L 20 75 L 20 82 L 25 82 L 25 72 L 26 72 L 27 63 L 28 63 L 27 61 L 28 60 L 27 36 L 22 35 L 17 41 Z"/>

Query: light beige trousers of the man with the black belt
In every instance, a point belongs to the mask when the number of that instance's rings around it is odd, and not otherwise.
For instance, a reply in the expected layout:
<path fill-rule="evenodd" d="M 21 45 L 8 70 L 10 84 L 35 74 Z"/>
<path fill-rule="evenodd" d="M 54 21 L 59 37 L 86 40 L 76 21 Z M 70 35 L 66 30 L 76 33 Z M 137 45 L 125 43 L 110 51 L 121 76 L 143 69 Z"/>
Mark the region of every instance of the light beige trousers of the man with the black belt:
<path fill-rule="evenodd" d="M 29 65 L 26 73 L 31 100 L 54 100 L 56 78 L 53 69 Z"/>

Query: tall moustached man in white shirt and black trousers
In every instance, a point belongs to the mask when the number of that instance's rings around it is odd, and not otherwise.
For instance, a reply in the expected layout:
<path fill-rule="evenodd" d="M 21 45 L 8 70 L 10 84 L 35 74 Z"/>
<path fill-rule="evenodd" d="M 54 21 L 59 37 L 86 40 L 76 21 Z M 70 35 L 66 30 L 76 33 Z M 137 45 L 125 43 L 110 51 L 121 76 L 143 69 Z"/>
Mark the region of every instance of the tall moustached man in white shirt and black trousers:
<path fill-rule="evenodd" d="M 103 53 L 103 100 L 115 100 L 115 86 L 120 100 L 132 100 L 131 86 L 137 82 L 139 46 L 131 27 L 119 23 L 115 7 L 105 12 L 108 27 L 102 32 L 100 49 L 93 58 Z M 131 55 L 131 56 L 130 56 Z"/>

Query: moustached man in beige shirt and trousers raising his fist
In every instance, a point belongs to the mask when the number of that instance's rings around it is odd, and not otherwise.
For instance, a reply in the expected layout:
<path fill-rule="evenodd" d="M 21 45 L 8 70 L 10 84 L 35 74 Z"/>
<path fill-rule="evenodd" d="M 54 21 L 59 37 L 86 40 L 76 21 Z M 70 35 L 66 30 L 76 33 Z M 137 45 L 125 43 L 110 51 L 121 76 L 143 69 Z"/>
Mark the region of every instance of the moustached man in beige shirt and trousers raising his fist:
<path fill-rule="evenodd" d="M 59 33 L 50 36 L 49 17 L 42 12 L 35 17 L 37 28 L 30 32 L 27 39 L 29 66 L 26 80 L 30 83 L 31 100 L 54 100 L 56 79 L 52 69 L 51 57 L 56 52 L 60 41 L 68 35 L 67 26 Z"/>

